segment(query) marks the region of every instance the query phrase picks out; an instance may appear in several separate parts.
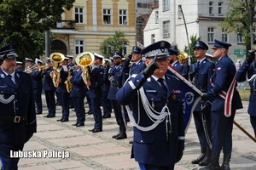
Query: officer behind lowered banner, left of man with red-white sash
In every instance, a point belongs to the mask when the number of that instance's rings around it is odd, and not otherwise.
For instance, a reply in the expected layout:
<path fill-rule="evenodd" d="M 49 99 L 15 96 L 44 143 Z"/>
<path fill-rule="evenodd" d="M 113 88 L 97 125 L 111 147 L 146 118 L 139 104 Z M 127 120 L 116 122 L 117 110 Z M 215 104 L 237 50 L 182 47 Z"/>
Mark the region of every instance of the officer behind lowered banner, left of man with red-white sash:
<path fill-rule="evenodd" d="M 206 58 L 208 46 L 205 42 L 195 41 L 193 49 L 197 62 L 190 67 L 190 78 L 193 80 L 192 82 L 196 88 L 200 89 L 202 93 L 207 93 L 212 88 L 210 78 L 213 75 L 215 65 Z M 204 108 L 204 111 L 201 111 L 201 105 L 202 103 L 199 102 L 193 111 L 195 129 L 201 145 L 201 155 L 191 162 L 200 166 L 206 166 L 212 156 L 210 147 L 212 141 L 211 105 L 209 102 L 206 103 L 207 107 Z"/>

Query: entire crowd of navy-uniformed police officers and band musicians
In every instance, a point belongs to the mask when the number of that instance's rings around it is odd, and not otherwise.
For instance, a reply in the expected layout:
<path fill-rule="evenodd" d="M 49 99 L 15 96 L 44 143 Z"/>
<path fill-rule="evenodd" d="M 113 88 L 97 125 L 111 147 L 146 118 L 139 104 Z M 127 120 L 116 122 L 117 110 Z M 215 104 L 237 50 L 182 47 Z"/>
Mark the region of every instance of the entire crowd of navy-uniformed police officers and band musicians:
<path fill-rule="evenodd" d="M 61 119 L 57 121 L 68 122 L 70 109 L 73 108 L 77 117 L 73 126 L 83 127 L 85 114 L 93 114 L 95 124 L 89 131 L 100 133 L 102 119 L 111 117 L 113 111 L 119 132 L 112 138 L 126 139 L 126 123 L 132 123 L 132 157 L 141 169 L 173 169 L 184 150 L 183 91 L 182 81 L 168 71 L 168 66 L 202 92 L 201 102 L 193 111 L 201 155 L 191 163 L 202 166 L 202 170 L 230 169 L 233 121 L 236 110 L 242 108 L 236 79 L 244 81 L 249 71 L 252 82 L 250 98 L 254 99 L 256 94 L 254 52 L 247 54 L 236 75 L 236 66 L 227 55 L 230 46 L 228 42 L 214 41 L 212 55 L 218 60 L 216 65 L 207 59 L 208 46 L 205 42 L 194 42 L 196 62 L 188 65 L 188 57 L 183 54 L 184 58 L 179 59 L 177 49 L 171 48 L 169 42 L 160 41 L 143 49 L 134 46 L 127 58 L 119 52 L 114 52 L 111 59 L 94 53 L 92 62 L 86 66 L 77 63 L 77 59 L 73 61 L 71 55 L 59 54 L 64 56 L 60 63 L 47 58 L 45 65 L 40 59 L 33 62 L 26 58 L 25 69 L 20 66 L 20 61 L 16 61 L 17 54 L 12 45 L 1 48 L 0 161 L 3 169 L 17 168 L 19 160 L 10 160 L 7 152 L 22 150 L 25 142 L 36 132 L 35 114 L 42 114 L 43 111 L 42 90 L 48 108 L 44 117 L 55 117 L 56 105 L 61 105 Z M 12 61 L 16 68 L 9 69 Z M 54 80 L 56 69 L 58 77 Z M 20 78 L 26 86 L 19 87 Z M 19 105 L 20 97 L 26 105 Z M 84 109 L 85 98 L 89 105 L 87 112 Z M 255 130 L 251 103 L 248 112 Z M 22 112 L 25 115 L 20 114 L 18 107 L 26 107 Z M 32 111 L 32 108 L 35 110 Z M 13 115 L 6 115 L 7 110 L 13 111 Z M 5 131 L 3 122 L 10 123 L 11 132 Z M 21 122 L 24 123 L 21 125 Z M 16 127 L 24 134 L 18 133 Z M 22 138 L 9 139 L 14 136 L 11 133 L 22 135 Z M 224 158 L 219 166 L 221 150 Z"/>

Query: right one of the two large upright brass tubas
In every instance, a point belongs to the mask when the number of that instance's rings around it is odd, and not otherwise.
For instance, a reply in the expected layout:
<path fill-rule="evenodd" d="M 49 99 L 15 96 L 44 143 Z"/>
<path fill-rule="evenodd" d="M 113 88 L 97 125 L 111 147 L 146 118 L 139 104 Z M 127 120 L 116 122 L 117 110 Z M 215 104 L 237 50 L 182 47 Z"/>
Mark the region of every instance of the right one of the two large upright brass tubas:
<path fill-rule="evenodd" d="M 83 52 L 76 57 L 77 65 L 81 66 L 83 74 L 84 82 L 87 82 L 90 79 L 90 73 L 88 71 L 88 66 L 90 66 L 94 61 L 94 54 L 90 52 Z M 89 89 L 89 87 L 87 87 Z"/>

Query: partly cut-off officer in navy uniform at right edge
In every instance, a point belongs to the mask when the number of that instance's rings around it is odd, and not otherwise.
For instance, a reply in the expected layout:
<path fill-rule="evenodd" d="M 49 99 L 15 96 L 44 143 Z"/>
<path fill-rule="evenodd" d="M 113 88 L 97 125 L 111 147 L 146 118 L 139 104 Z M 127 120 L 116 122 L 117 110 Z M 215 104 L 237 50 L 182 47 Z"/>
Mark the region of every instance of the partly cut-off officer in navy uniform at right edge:
<path fill-rule="evenodd" d="M 256 40 L 253 42 L 256 45 Z M 254 130 L 254 136 L 256 137 L 256 60 L 255 50 L 247 54 L 245 62 L 241 65 L 240 69 L 237 71 L 236 80 L 237 82 L 244 82 L 248 78 L 248 82 L 251 88 L 248 114 L 250 115 L 250 122 Z"/>

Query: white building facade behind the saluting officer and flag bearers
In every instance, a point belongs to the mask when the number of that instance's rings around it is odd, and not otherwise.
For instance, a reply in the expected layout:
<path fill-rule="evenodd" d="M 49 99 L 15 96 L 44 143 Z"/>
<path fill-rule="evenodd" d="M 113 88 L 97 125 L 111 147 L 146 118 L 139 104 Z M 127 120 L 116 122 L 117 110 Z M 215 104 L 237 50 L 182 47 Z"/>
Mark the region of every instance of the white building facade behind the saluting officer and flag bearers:
<path fill-rule="evenodd" d="M 226 34 L 218 26 L 224 20 L 228 5 L 229 0 L 161 0 L 159 6 L 152 10 L 144 28 L 144 45 L 166 40 L 183 51 L 188 46 L 190 37 L 196 36 L 207 43 L 207 53 L 212 54 L 214 39 L 218 39 L 232 44 L 229 55 L 233 61 L 244 60 L 246 47 L 241 35 L 234 32 Z"/>

